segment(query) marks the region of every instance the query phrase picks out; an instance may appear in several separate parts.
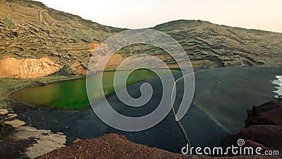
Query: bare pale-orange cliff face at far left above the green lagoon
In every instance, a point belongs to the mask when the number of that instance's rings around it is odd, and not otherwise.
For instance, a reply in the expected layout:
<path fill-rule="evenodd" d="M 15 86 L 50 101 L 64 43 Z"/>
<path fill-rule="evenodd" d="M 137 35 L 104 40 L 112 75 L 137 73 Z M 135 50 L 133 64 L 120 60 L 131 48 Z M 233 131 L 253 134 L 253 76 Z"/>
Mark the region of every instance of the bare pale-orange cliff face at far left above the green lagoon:
<path fill-rule="evenodd" d="M 46 57 L 40 59 L 15 59 L 0 61 L 0 78 L 38 78 L 59 71 L 61 66 Z"/>

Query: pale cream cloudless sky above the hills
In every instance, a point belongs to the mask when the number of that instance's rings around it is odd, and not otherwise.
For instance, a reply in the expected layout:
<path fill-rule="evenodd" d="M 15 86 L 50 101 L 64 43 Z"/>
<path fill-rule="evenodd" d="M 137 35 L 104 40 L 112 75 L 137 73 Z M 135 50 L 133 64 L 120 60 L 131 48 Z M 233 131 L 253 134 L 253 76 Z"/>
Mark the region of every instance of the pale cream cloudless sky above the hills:
<path fill-rule="evenodd" d="M 37 0 L 117 28 L 149 28 L 171 20 L 207 20 L 282 33 L 281 0 Z"/>

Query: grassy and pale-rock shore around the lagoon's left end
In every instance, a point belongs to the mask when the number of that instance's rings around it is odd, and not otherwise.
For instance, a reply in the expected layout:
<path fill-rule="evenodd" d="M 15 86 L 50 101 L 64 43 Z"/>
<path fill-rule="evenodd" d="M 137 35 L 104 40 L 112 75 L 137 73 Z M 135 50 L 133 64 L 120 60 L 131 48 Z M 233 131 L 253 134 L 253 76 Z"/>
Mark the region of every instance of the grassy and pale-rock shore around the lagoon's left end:
<path fill-rule="evenodd" d="M 64 139 L 62 138 L 63 134 L 59 134 L 59 136 L 57 136 L 56 134 L 52 134 L 49 130 L 36 129 L 35 127 L 29 126 L 22 120 L 18 119 L 18 114 L 15 113 L 13 104 L 19 101 L 13 99 L 11 95 L 18 90 L 23 90 L 32 86 L 40 86 L 41 84 L 39 82 L 47 81 L 48 83 L 57 83 L 60 81 L 74 80 L 78 78 L 83 77 L 51 75 L 34 79 L 0 79 L 0 110 L 2 110 L 0 117 L 4 117 L 4 121 L 7 124 L 11 124 L 15 128 L 13 131 L 6 134 L 5 136 L 1 136 L 0 143 L 1 146 L 4 146 L 3 148 L 1 148 L 1 150 L 8 151 L 8 153 L 3 152 L 5 154 L 4 156 L 6 156 L 5 158 L 35 158 L 37 157 L 35 155 L 40 155 L 40 152 L 47 153 L 48 151 L 52 151 L 56 147 L 59 148 L 58 146 L 54 146 L 54 148 L 51 148 L 52 145 L 56 145 L 54 144 L 54 142 L 52 142 L 52 140 L 54 139 L 57 139 L 58 141 L 61 140 L 58 143 L 61 146 L 64 146 L 64 143 L 66 143 L 66 141 L 64 141 Z M 28 105 L 30 107 L 37 107 L 35 105 L 31 105 L 24 102 L 20 103 L 22 103 L 23 105 Z M 50 138 L 46 138 L 44 136 L 50 136 Z M 43 143 L 38 143 L 40 139 L 44 139 Z M 49 147 L 47 145 L 49 145 Z M 44 146 L 47 146 L 48 148 Z M 28 150 L 28 148 L 30 149 Z"/>

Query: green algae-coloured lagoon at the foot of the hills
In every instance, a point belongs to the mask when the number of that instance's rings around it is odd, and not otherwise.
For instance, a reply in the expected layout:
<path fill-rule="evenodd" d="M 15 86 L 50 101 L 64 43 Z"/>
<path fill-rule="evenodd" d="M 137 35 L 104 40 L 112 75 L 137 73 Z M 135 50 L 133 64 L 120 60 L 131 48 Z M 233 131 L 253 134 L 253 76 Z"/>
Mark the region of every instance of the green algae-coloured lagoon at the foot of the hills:
<path fill-rule="evenodd" d="M 125 75 L 129 71 L 120 71 Z M 174 72 L 172 70 L 161 70 L 161 74 Z M 102 72 L 101 72 L 102 73 Z M 104 95 L 111 95 L 114 93 L 114 74 L 115 71 L 103 72 L 103 91 Z M 93 83 L 98 81 L 98 73 L 90 78 Z M 145 81 L 149 78 L 155 78 L 157 74 L 148 69 L 138 69 L 130 73 L 126 81 L 126 86 L 133 85 L 140 81 Z M 123 80 L 118 80 L 115 84 L 117 88 L 122 88 Z M 94 84 L 95 85 L 95 84 Z M 103 92 L 99 82 L 97 87 L 93 86 L 90 92 L 91 97 L 97 102 L 103 97 Z M 43 105 L 45 107 L 59 108 L 64 110 L 82 110 L 90 107 L 90 102 L 87 98 L 86 80 L 78 79 L 71 81 L 62 81 L 59 83 L 50 83 L 48 86 L 34 86 L 19 90 L 12 94 L 12 98 L 26 102 L 33 105 Z"/>

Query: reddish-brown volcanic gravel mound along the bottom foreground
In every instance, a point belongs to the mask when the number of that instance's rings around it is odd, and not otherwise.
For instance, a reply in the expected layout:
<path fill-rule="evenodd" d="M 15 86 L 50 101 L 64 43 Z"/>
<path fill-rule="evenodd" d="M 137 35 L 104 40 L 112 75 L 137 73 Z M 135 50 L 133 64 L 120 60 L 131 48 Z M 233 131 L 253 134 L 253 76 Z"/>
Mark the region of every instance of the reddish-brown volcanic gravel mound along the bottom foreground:
<path fill-rule="evenodd" d="M 181 155 L 161 150 L 159 148 L 150 148 L 141 144 L 128 141 L 125 136 L 118 134 L 106 134 L 95 139 L 78 140 L 71 146 L 61 147 L 45 155 L 41 159 L 59 159 L 59 158 L 202 158 L 211 159 L 207 155 Z M 219 157 L 216 157 L 219 158 Z M 223 157 L 226 158 L 226 157 Z M 271 158 L 263 155 L 242 155 L 228 158 Z"/>

